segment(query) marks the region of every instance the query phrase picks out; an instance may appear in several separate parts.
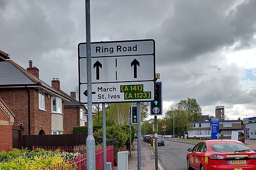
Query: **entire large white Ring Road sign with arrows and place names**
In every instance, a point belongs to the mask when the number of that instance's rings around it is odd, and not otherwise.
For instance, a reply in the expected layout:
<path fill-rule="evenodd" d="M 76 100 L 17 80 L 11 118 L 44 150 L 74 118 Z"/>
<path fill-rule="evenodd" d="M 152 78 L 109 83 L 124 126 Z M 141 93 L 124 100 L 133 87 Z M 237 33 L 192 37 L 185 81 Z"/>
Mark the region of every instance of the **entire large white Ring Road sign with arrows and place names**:
<path fill-rule="evenodd" d="M 155 96 L 155 41 L 92 42 L 92 102 L 151 102 Z M 86 43 L 78 44 L 79 101 L 87 101 Z"/>

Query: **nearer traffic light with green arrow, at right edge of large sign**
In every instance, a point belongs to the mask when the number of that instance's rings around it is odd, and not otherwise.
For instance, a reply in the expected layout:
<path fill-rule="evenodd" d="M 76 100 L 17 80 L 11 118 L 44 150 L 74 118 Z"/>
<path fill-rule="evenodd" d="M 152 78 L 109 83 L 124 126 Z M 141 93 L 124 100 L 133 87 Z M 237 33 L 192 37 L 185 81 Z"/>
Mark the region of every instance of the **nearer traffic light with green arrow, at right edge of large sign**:
<path fill-rule="evenodd" d="M 155 98 L 151 102 L 151 115 L 162 115 L 162 82 L 156 82 Z"/>

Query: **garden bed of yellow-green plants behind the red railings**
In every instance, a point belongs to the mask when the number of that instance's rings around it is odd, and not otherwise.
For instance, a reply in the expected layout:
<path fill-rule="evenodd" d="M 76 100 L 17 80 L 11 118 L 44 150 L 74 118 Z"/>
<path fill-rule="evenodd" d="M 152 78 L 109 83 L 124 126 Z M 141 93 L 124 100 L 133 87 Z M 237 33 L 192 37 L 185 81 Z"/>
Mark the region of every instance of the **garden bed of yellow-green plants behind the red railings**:
<path fill-rule="evenodd" d="M 2 170 L 30 170 L 41 169 L 42 167 L 60 165 L 62 168 L 68 167 L 70 161 L 76 158 L 79 153 L 68 153 L 56 151 L 45 151 L 36 149 L 28 151 L 27 149 L 12 149 L 9 152 L 0 152 L 0 169 Z M 72 169 L 76 169 L 76 164 Z"/>

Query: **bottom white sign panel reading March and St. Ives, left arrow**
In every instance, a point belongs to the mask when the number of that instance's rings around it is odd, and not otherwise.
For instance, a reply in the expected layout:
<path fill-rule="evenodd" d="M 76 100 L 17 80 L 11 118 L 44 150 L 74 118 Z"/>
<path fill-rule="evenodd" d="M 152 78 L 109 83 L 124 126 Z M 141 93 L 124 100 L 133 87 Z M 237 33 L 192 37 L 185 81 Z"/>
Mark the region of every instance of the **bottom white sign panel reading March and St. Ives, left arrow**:
<path fill-rule="evenodd" d="M 93 103 L 152 101 L 154 82 L 92 84 Z M 87 103 L 87 84 L 80 85 L 80 102 Z"/>

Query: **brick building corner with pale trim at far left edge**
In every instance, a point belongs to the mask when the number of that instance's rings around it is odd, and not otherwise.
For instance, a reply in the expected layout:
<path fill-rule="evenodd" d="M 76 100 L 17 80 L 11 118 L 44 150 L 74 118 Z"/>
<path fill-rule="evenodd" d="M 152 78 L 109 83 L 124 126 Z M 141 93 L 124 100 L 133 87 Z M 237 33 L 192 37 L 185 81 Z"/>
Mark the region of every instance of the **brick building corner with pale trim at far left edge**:
<path fill-rule="evenodd" d="M 14 114 L 0 98 L 0 151 L 12 147 L 12 125 Z"/>

